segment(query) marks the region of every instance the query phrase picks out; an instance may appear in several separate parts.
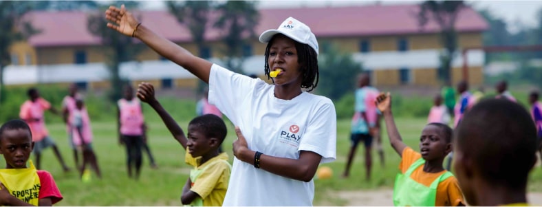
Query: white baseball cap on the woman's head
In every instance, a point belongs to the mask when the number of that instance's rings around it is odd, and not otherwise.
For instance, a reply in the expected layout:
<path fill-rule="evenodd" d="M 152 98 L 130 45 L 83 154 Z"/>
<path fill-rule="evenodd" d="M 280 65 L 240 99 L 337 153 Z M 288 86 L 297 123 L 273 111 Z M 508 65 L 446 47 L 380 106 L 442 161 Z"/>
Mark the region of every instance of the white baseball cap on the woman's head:
<path fill-rule="evenodd" d="M 293 17 L 288 17 L 288 19 L 281 23 L 277 30 L 267 30 L 261 33 L 260 42 L 268 43 L 275 34 L 279 33 L 290 37 L 294 41 L 309 45 L 316 51 L 316 56 L 318 56 L 318 41 L 316 41 L 316 36 L 312 34 L 310 28 L 303 22 Z"/>

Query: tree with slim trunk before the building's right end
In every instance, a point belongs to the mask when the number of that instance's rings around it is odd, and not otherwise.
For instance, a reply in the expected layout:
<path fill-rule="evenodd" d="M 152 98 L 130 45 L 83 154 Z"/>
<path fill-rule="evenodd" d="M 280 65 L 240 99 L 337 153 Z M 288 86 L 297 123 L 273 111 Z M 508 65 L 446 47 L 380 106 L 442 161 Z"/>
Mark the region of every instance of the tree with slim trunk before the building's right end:
<path fill-rule="evenodd" d="M 440 78 L 451 85 L 451 63 L 457 50 L 457 34 L 455 32 L 455 21 L 459 12 L 465 7 L 463 1 L 424 1 L 420 4 L 418 23 L 422 29 L 431 19 L 440 27 L 440 40 L 446 49 L 440 55 Z"/>

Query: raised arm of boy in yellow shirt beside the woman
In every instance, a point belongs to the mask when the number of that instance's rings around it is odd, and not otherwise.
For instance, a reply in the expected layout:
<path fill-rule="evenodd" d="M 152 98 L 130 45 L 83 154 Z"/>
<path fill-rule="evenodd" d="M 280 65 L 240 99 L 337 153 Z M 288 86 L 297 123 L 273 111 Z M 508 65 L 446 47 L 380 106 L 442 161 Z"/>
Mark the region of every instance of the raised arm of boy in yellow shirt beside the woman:
<path fill-rule="evenodd" d="M 182 145 L 183 149 L 186 149 L 186 142 L 188 142 L 188 140 L 186 139 L 186 136 L 184 136 L 184 132 L 181 127 L 179 127 L 179 124 L 169 116 L 166 109 L 164 109 L 164 107 L 160 105 L 160 102 L 154 97 L 153 85 L 150 83 L 140 83 L 137 95 L 142 102 L 147 102 L 153 107 L 154 111 L 158 113 L 160 118 L 162 118 L 162 121 L 164 121 L 164 124 L 166 124 L 166 127 L 169 132 L 171 132 L 171 135 L 173 135 L 173 138 Z"/>

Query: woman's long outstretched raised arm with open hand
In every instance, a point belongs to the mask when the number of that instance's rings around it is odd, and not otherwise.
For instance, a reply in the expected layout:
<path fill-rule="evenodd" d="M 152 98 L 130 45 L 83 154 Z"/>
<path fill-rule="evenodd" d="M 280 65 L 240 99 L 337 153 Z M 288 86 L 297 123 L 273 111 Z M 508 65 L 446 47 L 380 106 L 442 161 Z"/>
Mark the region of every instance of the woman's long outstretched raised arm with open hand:
<path fill-rule="evenodd" d="M 205 83 L 209 82 L 210 67 L 213 63 L 194 56 L 183 47 L 155 34 L 145 26 L 145 23 L 135 19 L 133 14 L 124 8 L 124 5 L 120 8 L 109 6 L 109 9 L 105 11 L 105 19 L 112 22 L 107 23 L 108 28 L 116 30 L 126 36 L 140 39 L 161 56 L 184 67 L 188 72 L 191 72 L 199 79 L 202 79 Z"/>

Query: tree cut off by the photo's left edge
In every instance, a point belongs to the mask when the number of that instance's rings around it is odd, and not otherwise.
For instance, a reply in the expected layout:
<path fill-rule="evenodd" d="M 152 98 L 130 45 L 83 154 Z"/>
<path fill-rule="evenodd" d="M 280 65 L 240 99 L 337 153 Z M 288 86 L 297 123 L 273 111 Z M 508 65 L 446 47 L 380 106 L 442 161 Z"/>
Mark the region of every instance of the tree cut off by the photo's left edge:
<path fill-rule="evenodd" d="M 6 100 L 3 69 L 11 63 L 11 45 L 38 32 L 23 19 L 31 9 L 31 1 L 0 1 L 0 103 Z"/>

